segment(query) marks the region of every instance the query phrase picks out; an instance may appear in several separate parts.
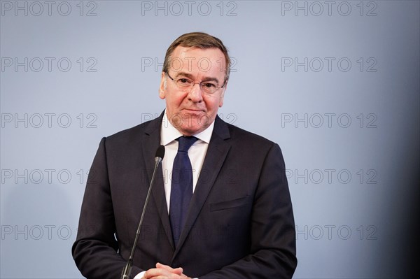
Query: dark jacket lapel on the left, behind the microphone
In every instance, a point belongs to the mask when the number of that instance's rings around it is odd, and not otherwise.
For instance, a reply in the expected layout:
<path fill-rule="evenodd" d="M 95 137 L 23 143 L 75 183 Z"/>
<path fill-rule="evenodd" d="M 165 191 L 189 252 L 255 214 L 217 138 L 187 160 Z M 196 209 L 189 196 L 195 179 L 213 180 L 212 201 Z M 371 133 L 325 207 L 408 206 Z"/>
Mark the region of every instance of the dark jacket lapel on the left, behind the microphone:
<path fill-rule="evenodd" d="M 162 117 L 163 113 L 160 117 L 152 120 L 145 132 L 146 136 L 143 145 L 143 152 L 144 165 L 147 169 L 149 184 L 153 176 L 153 169 L 155 168 L 155 152 L 160 145 L 160 125 L 162 124 Z M 162 164 L 158 167 L 158 172 L 156 173 L 156 180 L 155 185 L 152 188 L 152 195 L 157 206 L 163 228 L 165 229 L 165 234 L 167 235 L 169 243 L 171 243 L 172 249 L 174 249 L 171 224 L 169 222 L 167 203 L 165 199 L 165 187 L 163 185 Z"/>

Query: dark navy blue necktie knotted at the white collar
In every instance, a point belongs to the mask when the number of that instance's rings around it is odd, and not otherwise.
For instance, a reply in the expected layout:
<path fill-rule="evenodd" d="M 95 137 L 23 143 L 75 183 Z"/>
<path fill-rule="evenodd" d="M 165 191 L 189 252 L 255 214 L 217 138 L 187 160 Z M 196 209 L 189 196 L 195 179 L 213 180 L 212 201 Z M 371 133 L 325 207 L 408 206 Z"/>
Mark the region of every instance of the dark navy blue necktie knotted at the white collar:
<path fill-rule="evenodd" d="M 172 169 L 171 201 L 169 203 L 169 219 L 175 245 L 179 241 L 179 236 L 181 236 L 188 206 L 193 196 L 193 169 L 188 157 L 188 149 L 197 141 L 197 138 L 181 136 L 178 141 L 178 152 Z"/>

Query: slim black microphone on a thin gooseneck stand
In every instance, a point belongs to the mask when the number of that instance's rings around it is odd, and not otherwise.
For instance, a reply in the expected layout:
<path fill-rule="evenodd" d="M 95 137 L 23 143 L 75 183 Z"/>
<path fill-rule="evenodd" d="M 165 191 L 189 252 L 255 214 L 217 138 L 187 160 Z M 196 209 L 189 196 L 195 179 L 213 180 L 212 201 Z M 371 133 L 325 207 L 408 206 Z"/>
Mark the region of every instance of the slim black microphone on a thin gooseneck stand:
<path fill-rule="evenodd" d="M 128 259 L 127 264 L 125 265 L 125 267 L 123 269 L 123 272 L 121 272 L 121 279 L 130 279 L 131 278 L 130 276 L 131 276 L 131 271 L 132 271 L 132 266 L 133 266 L 134 250 L 136 250 L 137 242 L 139 241 L 141 224 L 143 223 L 144 213 L 146 212 L 146 206 L 147 206 L 147 203 L 148 203 L 148 199 L 149 199 L 149 196 L 151 195 L 152 185 L 153 185 L 153 182 L 155 181 L 156 170 L 158 169 L 158 166 L 159 166 L 160 162 L 162 162 L 162 159 L 163 159 L 164 156 L 165 156 L 165 146 L 160 145 L 158 147 L 158 149 L 156 150 L 155 169 L 153 169 L 153 176 L 152 176 L 152 179 L 151 179 L 151 184 L 149 185 L 147 196 L 146 196 L 146 201 L 144 201 L 143 210 L 141 211 L 139 227 L 137 227 L 137 233 L 136 233 L 136 238 L 134 239 L 132 252 L 130 254 L 130 258 Z"/>

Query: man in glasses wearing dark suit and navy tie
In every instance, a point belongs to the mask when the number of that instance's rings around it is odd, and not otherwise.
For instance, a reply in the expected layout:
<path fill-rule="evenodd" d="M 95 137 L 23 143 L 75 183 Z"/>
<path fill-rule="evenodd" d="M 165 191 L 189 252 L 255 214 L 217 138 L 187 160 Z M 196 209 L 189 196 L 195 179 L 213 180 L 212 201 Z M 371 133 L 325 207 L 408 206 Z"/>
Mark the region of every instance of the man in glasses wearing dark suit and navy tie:
<path fill-rule="evenodd" d="M 135 278 L 293 276 L 295 226 L 281 150 L 217 116 L 229 72 L 218 38 L 180 36 L 165 56 L 162 115 L 102 138 L 72 248 L 83 276 L 120 278 L 159 145 L 166 153 L 134 255 Z"/>

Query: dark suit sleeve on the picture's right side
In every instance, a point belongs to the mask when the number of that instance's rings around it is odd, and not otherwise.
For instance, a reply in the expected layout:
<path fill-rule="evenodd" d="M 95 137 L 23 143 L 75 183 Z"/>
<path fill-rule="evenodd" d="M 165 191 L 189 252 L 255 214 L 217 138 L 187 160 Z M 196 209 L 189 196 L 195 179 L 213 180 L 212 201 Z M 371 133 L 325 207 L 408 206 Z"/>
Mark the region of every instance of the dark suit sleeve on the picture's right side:
<path fill-rule="evenodd" d="M 251 214 L 250 254 L 200 279 L 292 278 L 295 223 L 283 155 L 273 144 L 262 164 Z"/>

